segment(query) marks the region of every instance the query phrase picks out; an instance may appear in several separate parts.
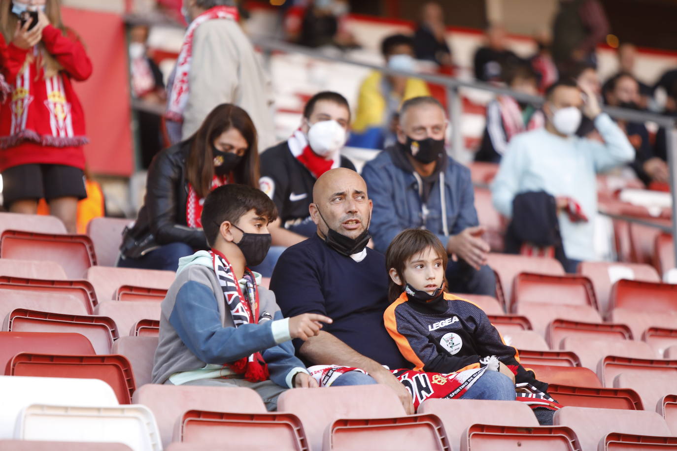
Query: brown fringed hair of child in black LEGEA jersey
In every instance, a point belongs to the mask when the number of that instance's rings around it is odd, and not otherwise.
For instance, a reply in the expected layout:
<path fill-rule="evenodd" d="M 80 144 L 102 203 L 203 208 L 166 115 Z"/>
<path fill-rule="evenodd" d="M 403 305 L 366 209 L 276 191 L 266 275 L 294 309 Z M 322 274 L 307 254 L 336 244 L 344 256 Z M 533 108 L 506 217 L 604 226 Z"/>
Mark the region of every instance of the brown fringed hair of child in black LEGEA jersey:
<path fill-rule="evenodd" d="M 442 266 L 446 271 L 449 260 L 447 250 L 434 233 L 423 229 L 406 229 L 393 238 L 385 252 L 385 269 L 390 272 L 391 268 L 395 268 L 399 279 L 403 280 L 404 268 L 410 258 L 429 247 L 432 247 L 442 259 Z M 446 277 L 444 277 L 443 289 L 444 291 L 447 289 Z M 391 302 L 399 298 L 403 290 L 402 285 L 397 285 L 391 277 L 388 277 L 388 299 Z"/>

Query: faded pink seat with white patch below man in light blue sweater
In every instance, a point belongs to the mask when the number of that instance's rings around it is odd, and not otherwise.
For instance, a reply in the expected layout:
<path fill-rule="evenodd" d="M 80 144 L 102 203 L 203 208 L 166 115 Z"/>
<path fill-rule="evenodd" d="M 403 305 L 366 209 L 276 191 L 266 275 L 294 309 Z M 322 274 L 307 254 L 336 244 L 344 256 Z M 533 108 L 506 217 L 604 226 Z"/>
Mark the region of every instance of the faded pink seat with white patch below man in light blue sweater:
<path fill-rule="evenodd" d="M 609 310 L 611 286 L 620 279 L 660 282 L 655 268 L 648 264 L 620 262 L 581 262 L 578 273 L 590 279 L 594 286 L 597 305 L 601 314 Z"/>

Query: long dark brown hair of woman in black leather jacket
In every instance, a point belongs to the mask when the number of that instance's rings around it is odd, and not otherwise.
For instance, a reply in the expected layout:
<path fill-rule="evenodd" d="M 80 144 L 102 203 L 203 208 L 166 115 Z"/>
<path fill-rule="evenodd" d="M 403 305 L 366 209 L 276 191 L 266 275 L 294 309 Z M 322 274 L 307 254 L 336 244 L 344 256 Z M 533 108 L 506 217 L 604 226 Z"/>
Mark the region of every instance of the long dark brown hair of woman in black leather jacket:
<path fill-rule="evenodd" d="M 247 142 L 247 151 L 242 161 L 233 170 L 235 183 L 259 187 L 259 146 L 257 131 L 254 123 L 242 108 L 230 103 L 221 103 L 207 115 L 190 137 L 190 153 L 186 162 L 186 179 L 200 197 L 206 197 L 211 189 L 214 178 L 214 141 L 222 133 L 235 128 L 244 141 Z"/>

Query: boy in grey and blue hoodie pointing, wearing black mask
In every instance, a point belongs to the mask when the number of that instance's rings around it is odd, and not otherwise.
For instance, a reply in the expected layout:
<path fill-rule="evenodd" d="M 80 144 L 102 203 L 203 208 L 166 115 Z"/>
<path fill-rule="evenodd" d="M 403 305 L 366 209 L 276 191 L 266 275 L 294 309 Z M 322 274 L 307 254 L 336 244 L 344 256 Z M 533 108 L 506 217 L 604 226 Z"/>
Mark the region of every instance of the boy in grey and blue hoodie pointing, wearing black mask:
<path fill-rule="evenodd" d="M 317 386 L 290 339 L 317 335 L 332 320 L 282 318 L 274 293 L 247 268 L 265 258 L 276 216 L 273 201 L 252 187 L 224 185 L 206 197 L 201 219 L 212 249 L 179 260 L 162 301 L 153 383 L 249 387 L 268 410 L 285 389 Z"/>

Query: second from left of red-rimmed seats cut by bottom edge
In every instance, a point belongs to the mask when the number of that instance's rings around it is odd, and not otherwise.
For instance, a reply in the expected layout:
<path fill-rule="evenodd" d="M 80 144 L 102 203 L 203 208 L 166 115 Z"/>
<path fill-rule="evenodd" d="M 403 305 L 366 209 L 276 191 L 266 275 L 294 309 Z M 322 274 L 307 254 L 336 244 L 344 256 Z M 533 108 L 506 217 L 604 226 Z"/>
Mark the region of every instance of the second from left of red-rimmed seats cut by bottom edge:
<path fill-rule="evenodd" d="M 433 414 L 379 419 L 340 419 L 324 434 L 323 450 L 449 450 L 442 421 Z"/>

